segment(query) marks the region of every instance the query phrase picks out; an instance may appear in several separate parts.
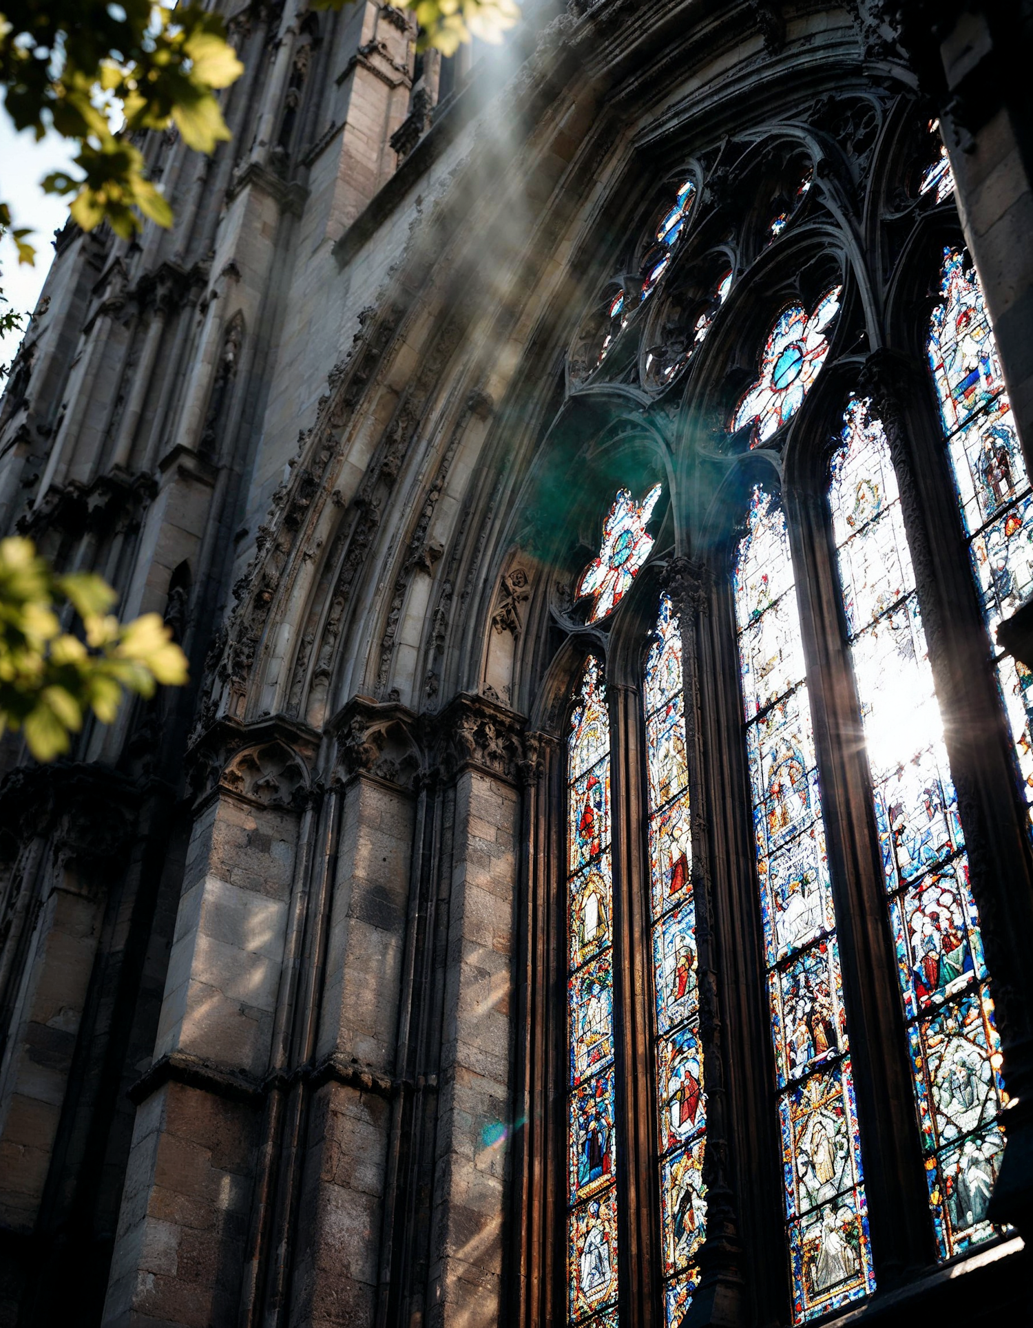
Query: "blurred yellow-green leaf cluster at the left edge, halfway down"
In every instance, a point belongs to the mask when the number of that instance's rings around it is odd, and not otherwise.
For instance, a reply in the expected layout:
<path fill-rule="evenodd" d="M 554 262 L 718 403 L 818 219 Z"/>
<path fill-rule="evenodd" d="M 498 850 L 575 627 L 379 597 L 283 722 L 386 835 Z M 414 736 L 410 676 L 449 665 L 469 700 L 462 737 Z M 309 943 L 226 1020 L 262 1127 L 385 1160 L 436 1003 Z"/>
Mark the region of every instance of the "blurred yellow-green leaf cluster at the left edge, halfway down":
<path fill-rule="evenodd" d="M 112 724 L 123 692 L 182 687 L 187 661 L 158 614 L 125 625 L 116 592 L 93 572 L 56 576 L 29 539 L 0 540 L 0 733 L 21 729 L 40 761 L 66 752 L 88 710 Z M 77 614 L 82 635 L 58 611 Z"/>

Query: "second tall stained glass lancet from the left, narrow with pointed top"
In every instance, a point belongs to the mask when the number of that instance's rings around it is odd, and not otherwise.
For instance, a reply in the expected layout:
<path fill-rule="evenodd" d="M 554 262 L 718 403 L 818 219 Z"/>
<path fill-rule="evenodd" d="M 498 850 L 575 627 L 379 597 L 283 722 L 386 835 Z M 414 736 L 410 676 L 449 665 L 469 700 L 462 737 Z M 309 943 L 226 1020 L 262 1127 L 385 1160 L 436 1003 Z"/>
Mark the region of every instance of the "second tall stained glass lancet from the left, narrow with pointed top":
<path fill-rule="evenodd" d="M 706 1219 L 696 906 L 692 891 L 689 768 L 681 631 L 671 599 L 660 600 L 645 665 L 645 753 L 649 795 L 651 931 L 656 993 L 656 1109 L 660 1226 L 668 1328 L 677 1328 L 698 1283 L 696 1258 Z"/>

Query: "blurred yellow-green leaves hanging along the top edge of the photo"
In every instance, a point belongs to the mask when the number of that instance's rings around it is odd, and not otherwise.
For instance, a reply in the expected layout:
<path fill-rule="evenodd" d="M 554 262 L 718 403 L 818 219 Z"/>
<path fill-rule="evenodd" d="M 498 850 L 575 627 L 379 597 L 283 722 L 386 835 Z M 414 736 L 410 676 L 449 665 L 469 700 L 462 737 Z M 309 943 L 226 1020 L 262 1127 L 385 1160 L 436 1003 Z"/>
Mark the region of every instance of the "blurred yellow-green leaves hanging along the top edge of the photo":
<path fill-rule="evenodd" d="M 42 187 L 72 194 L 70 212 L 89 231 L 108 222 L 129 239 L 150 218 L 170 226 L 169 201 L 147 179 L 133 141 L 142 130 L 170 126 L 189 147 L 212 153 L 228 139 L 216 92 L 244 66 L 226 39 L 222 16 L 197 0 L 186 5 L 154 0 L 3 0 L 0 84 L 16 129 L 37 139 L 53 127 L 78 147 L 82 173 L 53 171 Z M 340 9 L 351 0 L 315 0 Z M 421 0 L 421 48 L 451 54 L 474 36 L 501 41 L 519 19 L 515 0 Z M 32 263 L 27 230 L 11 230 L 9 205 L 0 226 Z"/>

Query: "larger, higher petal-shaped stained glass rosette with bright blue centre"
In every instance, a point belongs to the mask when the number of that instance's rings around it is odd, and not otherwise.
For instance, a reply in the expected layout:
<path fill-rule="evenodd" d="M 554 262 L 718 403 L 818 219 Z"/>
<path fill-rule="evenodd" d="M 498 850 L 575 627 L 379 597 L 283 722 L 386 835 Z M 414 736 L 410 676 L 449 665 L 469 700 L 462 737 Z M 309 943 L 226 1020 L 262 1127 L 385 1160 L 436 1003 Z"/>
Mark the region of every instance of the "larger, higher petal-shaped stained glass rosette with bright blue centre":
<path fill-rule="evenodd" d="M 729 430 L 752 425 L 750 446 L 766 442 L 803 405 L 829 355 L 829 328 L 839 312 L 842 286 L 818 300 L 811 313 L 791 304 L 775 319 L 761 353 L 761 372 L 732 416 Z"/>

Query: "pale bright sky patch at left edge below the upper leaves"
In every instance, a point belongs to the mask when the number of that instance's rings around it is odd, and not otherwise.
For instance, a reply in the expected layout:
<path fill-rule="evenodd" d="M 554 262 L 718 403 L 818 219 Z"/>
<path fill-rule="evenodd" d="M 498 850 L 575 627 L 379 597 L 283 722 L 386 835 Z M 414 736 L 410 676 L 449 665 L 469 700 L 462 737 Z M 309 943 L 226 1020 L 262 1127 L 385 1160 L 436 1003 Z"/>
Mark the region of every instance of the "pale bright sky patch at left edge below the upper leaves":
<path fill-rule="evenodd" d="M 36 246 L 35 267 L 19 264 L 9 238 L 0 240 L 0 284 L 11 308 L 21 313 L 36 307 L 54 256 L 50 244 L 53 232 L 65 224 L 68 216 L 69 199 L 44 194 L 40 181 L 52 170 L 66 170 L 70 161 L 72 147 L 57 134 L 48 134 L 39 143 L 31 130 L 16 134 L 5 112 L 0 109 L 0 199 L 9 205 L 15 227 L 31 226 L 35 231 L 35 235 L 27 236 Z M 72 174 L 77 171 L 73 170 Z M 11 364 L 20 343 L 20 332 L 0 337 L 0 364 Z"/>

